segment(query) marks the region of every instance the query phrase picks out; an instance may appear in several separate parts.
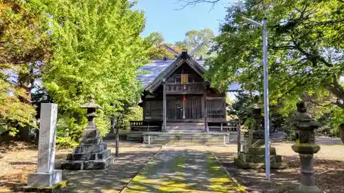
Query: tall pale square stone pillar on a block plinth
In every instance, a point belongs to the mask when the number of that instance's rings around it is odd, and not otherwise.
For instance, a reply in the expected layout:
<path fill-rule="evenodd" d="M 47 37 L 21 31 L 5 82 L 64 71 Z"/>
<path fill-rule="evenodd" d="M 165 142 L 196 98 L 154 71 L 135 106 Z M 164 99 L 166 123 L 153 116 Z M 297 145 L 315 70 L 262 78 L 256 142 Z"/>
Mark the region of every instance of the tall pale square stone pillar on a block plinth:
<path fill-rule="evenodd" d="M 37 172 L 28 174 L 28 186 L 49 187 L 61 182 L 62 171 L 54 170 L 56 122 L 57 104 L 42 103 Z"/>

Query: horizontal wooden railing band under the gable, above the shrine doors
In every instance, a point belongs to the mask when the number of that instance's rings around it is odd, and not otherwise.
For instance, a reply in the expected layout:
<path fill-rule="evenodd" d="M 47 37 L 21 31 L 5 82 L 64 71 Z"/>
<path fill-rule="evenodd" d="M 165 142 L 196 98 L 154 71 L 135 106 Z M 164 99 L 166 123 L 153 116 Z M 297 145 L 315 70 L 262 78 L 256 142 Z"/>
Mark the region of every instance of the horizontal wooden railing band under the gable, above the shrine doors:
<path fill-rule="evenodd" d="M 203 82 L 191 82 L 186 84 L 167 82 L 166 93 L 203 93 Z"/>

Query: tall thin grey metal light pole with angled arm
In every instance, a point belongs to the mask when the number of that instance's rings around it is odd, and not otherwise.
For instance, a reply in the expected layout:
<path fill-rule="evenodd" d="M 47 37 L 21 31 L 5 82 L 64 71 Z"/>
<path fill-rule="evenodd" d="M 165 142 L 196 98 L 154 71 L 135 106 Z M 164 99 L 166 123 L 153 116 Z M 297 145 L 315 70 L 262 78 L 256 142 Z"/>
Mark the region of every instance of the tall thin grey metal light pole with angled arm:
<path fill-rule="evenodd" d="M 264 66 L 264 131 L 265 131 L 265 168 L 266 179 L 270 180 L 270 122 L 269 122 L 269 86 L 268 86 L 268 27 L 267 18 L 263 24 L 241 16 L 243 19 L 263 27 L 263 66 Z"/>

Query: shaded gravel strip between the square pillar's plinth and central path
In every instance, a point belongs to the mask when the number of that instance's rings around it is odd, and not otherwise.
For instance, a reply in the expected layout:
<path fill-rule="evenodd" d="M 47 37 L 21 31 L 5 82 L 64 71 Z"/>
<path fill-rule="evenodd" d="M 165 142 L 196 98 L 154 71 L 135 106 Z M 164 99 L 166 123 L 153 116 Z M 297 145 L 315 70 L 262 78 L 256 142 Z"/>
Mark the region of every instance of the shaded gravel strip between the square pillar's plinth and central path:
<path fill-rule="evenodd" d="M 115 152 L 111 141 L 107 143 L 111 152 Z M 147 148 L 132 144 L 126 147 L 122 144 L 119 157 L 115 157 L 115 163 L 106 170 L 63 170 L 63 180 L 68 181 L 63 193 L 118 193 L 158 150 L 160 146 Z"/>

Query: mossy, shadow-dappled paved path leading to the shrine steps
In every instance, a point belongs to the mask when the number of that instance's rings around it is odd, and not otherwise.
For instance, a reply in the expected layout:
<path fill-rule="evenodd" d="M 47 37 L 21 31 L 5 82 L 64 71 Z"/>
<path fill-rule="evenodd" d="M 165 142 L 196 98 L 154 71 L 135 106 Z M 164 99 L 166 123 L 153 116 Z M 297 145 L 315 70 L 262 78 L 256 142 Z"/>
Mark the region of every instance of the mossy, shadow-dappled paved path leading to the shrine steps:
<path fill-rule="evenodd" d="M 122 191 L 239 192 L 204 146 L 164 146 Z"/>

